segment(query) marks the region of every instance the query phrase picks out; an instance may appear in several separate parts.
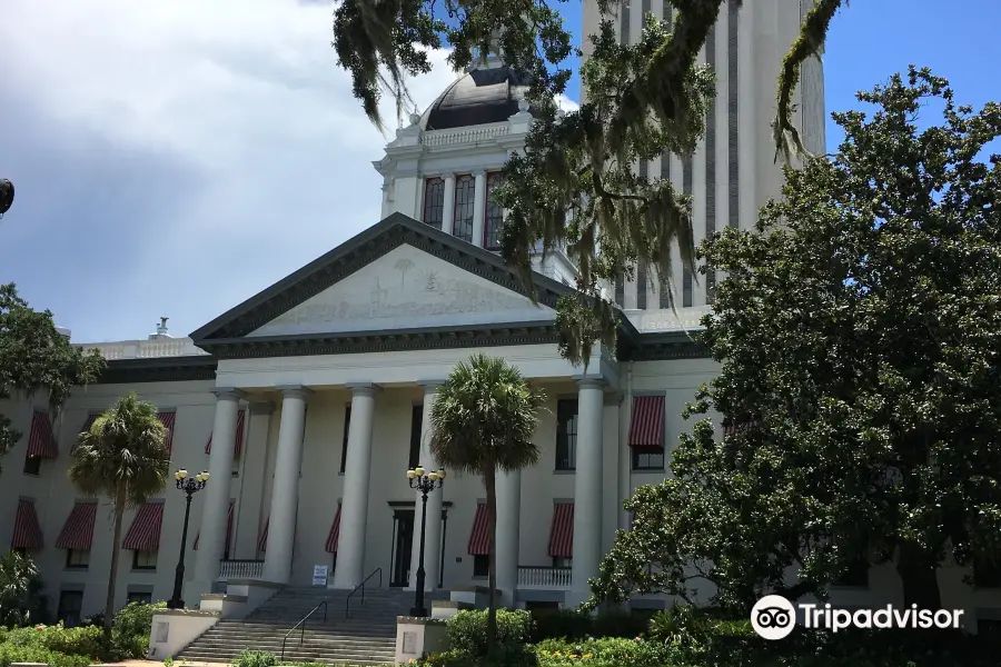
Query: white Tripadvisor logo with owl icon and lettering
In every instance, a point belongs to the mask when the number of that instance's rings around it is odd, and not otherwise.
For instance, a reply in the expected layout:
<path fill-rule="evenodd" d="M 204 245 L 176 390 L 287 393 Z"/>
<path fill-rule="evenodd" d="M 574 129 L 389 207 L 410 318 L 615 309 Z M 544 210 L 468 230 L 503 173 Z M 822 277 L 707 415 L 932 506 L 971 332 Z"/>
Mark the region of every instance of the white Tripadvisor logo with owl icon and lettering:
<path fill-rule="evenodd" d="M 793 606 L 781 595 L 766 595 L 751 609 L 751 627 L 765 639 L 784 639 L 796 625 L 796 610 L 801 611 L 803 627 L 836 633 L 845 628 L 959 628 L 962 609 L 895 609 L 886 605 L 879 609 L 835 609 L 827 605 L 801 604 Z"/>

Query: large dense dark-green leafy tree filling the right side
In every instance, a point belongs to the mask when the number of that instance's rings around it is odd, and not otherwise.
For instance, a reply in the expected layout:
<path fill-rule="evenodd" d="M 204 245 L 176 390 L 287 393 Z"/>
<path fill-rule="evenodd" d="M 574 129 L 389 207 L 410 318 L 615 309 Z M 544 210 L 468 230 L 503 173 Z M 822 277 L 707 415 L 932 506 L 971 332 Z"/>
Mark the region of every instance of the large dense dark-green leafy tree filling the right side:
<path fill-rule="evenodd" d="M 720 372 L 594 601 L 712 585 L 746 611 L 862 559 L 939 608 L 943 563 L 1001 554 L 1001 106 L 914 68 L 858 98 L 871 113 L 833 115 L 838 152 L 786 169 L 756 230 L 701 247 L 725 275 L 701 336 Z"/>

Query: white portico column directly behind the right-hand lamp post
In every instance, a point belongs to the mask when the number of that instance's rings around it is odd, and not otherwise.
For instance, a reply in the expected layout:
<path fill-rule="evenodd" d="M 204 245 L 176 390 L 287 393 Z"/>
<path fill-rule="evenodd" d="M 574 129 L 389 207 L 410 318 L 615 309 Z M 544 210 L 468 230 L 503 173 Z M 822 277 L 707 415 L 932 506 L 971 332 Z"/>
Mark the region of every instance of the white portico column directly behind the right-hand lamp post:
<path fill-rule="evenodd" d="M 422 382 L 424 385 L 424 409 L 420 417 L 420 465 L 428 470 L 437 470 L 438 462 L 430 452 L 430 439 L 434 432 L 430 422 L 430 411 L 435 405 L 435 397 L 443 382 Z M 446 470 L 447 472 L 447 470 Z M 400 477 L 403 479 L 403 477 Z M 448 478 L 446 478 L 447 480 Z M 447 481 L 446 481 L 447 484 Z M 439 570 L 442 565 L 442 501 L 445 489 L 435 489 L 427 495 L 427 530 L 424 534 L 424 589 L 435 590 L 438 587 Z M 410 550 L 410 581 L 409 590 L 417 589 L 417 568 L 420 567 L 420 522 L 422 504 L 420 491 L 416 491 L 414 504 L 414 540 Z"/>

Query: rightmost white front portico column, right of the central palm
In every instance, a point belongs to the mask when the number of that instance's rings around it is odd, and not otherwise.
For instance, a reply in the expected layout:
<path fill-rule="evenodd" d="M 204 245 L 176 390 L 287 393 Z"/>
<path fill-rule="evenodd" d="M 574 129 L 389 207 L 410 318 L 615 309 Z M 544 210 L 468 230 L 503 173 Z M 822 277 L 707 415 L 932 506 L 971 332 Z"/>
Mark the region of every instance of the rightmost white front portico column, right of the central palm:
<path fill-rule="evenodd" d="M 571 606 L 591 597 L 587 579 L 596 577 L 602 557 L 602 431 L 605 396 L 599 379 L 577 381 L 577 469 L 574 472 L 573 583 Z"/>

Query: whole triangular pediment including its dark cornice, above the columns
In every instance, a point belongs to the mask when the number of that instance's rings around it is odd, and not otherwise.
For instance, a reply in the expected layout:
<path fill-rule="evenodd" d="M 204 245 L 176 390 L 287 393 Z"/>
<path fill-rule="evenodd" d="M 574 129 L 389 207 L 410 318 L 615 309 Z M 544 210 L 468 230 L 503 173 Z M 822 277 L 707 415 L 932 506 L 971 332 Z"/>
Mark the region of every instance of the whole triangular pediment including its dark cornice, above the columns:
<path fill-rule="evenodd" d="M 553 322 L 556 299 L 573 290 L 538 273 L 532 280 L 537 303 L 500 257 L 394 213 L 191 338 L 208 349 Z"/>

